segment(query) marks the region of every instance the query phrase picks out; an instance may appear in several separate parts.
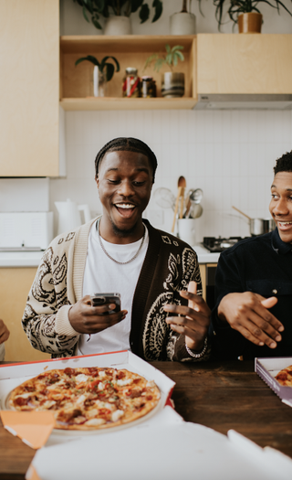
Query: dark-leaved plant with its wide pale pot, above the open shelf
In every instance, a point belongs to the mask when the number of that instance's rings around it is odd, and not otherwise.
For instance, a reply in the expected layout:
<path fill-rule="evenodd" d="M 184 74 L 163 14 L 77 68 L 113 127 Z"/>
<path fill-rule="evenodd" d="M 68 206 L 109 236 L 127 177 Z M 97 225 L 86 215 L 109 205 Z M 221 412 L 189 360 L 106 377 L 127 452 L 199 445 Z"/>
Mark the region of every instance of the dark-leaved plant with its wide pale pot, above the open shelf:
<path fill-rule="evenodd" d="M 145 0 L 73 0 L 82 6 L 83 16 L 89 22 L 87 12 L 91 16 L 93 25 L 101 29 L 100 16 L 106 18 L 105 35 L 130 35 L 130 14 L 139 11 L 141 24 L 150 17 L 150 7 Z M 153 0 L 154 16 L 156 22 L 162 15 L 162 1 Z"/>

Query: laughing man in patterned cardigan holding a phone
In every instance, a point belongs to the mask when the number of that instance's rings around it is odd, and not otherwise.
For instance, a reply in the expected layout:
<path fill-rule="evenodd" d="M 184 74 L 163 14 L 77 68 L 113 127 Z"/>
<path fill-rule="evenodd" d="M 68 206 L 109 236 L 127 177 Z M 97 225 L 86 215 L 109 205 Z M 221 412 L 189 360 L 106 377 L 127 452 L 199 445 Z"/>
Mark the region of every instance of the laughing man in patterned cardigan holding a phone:
<path fill-rule="evenodd" d="M 58 236 L 45 252 L 23 318 L 33 347 L 53 357 L 122 349 L 147 360 L 208 357 L 210 310 L 197 256 L 142 219 L 156 167 L 149 146 L 134 138 L 99 151 L 102 216 Z M 108 292 L 120 293 L 120 312 L 112 313 L 115 304 L 91 305 L 90 295 Z"/>

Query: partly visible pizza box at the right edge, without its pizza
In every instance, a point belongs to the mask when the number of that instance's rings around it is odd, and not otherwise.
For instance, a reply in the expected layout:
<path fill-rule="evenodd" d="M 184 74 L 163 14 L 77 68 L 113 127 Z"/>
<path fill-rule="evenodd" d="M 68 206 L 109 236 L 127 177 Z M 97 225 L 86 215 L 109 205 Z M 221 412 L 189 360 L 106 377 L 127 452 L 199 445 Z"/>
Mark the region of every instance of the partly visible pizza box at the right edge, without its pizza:
<path fill-rule="evenodd" d="M 283 403 L 292 407 L 292 388 L 280 385 L 275 379 L 279 371 L 287 368 L 289 365 L 292 365 L 292 357 L 255 358 L 255 372 L 257 375 L 275 391 Z"/>

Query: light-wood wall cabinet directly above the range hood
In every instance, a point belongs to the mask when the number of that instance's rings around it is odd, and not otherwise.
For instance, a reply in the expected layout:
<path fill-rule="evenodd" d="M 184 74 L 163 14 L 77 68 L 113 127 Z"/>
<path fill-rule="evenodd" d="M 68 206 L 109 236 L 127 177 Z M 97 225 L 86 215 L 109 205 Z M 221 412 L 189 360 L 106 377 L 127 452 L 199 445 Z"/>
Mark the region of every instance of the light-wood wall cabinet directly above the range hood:
<path fill-rule="evenodd" d="M 291 94 L 292 35 L 200 34 L 198 94 Z"/>

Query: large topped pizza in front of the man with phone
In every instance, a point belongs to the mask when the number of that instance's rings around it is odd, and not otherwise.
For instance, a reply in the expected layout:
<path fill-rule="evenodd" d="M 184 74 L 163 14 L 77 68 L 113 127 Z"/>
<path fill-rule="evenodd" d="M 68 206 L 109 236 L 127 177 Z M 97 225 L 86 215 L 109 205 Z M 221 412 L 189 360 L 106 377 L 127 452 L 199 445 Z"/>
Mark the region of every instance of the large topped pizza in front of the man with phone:
<path fill-rule="evenodd" d="M 126 369 L 48 370 L 12 390 L 8 407 L 16 411 L 53 411 L 55 428 L 94 430 L 137 420 L 158 404 L 154 383 Z"/>

